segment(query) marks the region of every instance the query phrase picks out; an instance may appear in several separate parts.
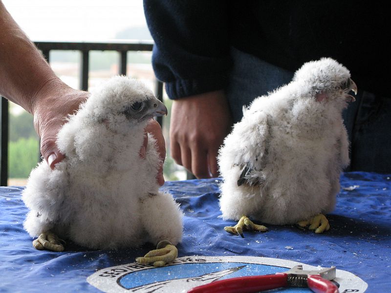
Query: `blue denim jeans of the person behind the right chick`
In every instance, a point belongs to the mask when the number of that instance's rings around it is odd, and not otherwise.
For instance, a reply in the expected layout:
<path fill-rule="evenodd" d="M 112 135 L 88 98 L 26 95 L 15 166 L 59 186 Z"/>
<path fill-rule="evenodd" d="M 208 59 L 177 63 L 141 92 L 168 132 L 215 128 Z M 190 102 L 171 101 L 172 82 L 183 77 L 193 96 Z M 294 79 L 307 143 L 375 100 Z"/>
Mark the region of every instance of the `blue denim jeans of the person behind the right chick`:
<path fill-rule="evenodd" d="M 289 83 L 293 72 L 235 48 L 231 54 L 234 65 L 226 94 L 236 123 L 242 117 L 243 105 Z M 391 173 L 391 99 L 360 90 L 360 84 L 357 87 L 356 102 L 343 113 L 351 160 L 346 171 Z"/>

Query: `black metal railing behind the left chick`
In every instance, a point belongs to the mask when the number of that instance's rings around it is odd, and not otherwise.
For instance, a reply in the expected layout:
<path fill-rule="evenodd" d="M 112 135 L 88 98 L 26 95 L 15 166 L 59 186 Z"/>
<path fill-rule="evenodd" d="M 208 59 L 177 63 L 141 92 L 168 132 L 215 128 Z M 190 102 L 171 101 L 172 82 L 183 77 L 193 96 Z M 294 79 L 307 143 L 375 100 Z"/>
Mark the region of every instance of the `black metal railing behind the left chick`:
<path fill-rule="evenodd" d="M 117 51 L 120 55 L 118 74 L 127 74 L 127 53 L 130 51 L 152 51 L 152 42 L 35 42 L 50 63 L 51 50 L 71 50 L 81 52 L 80 61 L 80 89 L 88 90 L 89 52 L 90 51 Z M 163 99 L 163 84 L 155 80 L 155 95 Z M 8 180 L 8 101 L 1 98 L 1 149 L 0 149 L 0 185 L 7 186 Z M 162 117 L 157 121 L 162 125 Z"/>

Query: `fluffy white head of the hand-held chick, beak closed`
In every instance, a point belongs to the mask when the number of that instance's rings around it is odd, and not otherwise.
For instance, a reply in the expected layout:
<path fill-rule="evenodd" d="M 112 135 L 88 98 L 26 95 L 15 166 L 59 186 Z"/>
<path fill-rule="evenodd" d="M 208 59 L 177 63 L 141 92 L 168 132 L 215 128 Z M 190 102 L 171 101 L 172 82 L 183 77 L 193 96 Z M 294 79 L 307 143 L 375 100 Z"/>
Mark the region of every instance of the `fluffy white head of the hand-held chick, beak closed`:
<path fill-rule="evenodd" d="M 126 76 L 111 78 L 96 88 L 85 109 L 92 121 L 113 129 L 144 126 L 154 116 L 167 115 L 166 106 L 149 88 Z"/>

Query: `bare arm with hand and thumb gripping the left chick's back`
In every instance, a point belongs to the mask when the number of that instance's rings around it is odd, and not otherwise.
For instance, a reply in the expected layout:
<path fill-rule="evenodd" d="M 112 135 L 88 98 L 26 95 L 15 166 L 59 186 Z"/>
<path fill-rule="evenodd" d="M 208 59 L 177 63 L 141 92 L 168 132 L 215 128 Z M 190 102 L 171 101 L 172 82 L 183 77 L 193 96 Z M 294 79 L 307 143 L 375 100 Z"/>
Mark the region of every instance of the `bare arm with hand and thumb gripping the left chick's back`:
<path fill-rule="evenodd" d="M 0 95 L 34 115 L 41 153 L 54 168 L 64 158 L 55 144 L 58 130 L 88 93 L 70 88 L 54 74 L 1 0 Z"/>

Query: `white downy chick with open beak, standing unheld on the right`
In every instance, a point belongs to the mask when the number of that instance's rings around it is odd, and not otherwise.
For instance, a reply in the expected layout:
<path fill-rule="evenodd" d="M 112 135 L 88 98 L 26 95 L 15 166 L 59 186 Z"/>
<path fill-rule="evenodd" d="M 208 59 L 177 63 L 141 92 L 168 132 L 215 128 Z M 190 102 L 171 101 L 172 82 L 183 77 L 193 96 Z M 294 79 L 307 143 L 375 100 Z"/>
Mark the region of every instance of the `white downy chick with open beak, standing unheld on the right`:
<path fill-rule="evenodd" d="M 226 227 L 267 230 L 273 225 L 329 229 L 342 169 L 349 164 L 342 110 L 357 92 L 346 67 L 330 58 L 304 63 L 293 80 L 243 108 L 219 150 L 220 209 Z"/>

